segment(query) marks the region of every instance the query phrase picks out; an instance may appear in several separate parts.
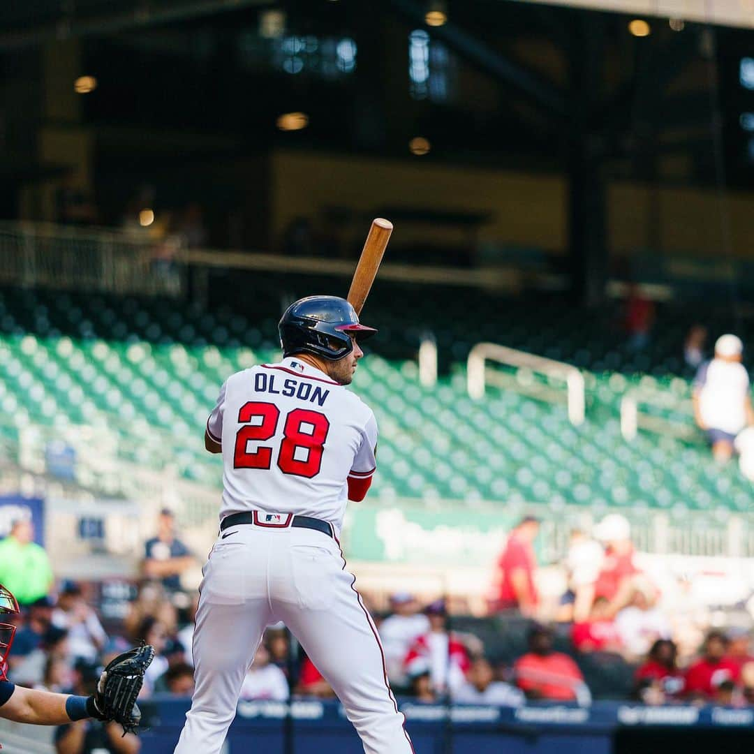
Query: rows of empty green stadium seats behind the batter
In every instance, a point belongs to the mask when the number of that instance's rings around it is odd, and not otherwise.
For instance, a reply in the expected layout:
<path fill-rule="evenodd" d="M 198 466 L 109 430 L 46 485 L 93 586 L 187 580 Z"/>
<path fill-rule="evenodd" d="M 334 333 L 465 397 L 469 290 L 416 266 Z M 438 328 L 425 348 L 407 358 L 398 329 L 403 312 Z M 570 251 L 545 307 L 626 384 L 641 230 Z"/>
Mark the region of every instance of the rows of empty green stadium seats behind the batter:
<path fill-rule="evenodd" d="M 103 428 L 112 447 L 102 452 L 155 470 L 170 466 L 182 477 L 219 486 L 219 458 L 204 452 L 204 421 L 225 377 L 279 356 L 275 318 L 269 317 L 279 309 L 278 301 L 276 309 L 267 308 L 266 320 L 251 323 L 225 309 L 207 314 L 179 302 L 0 291 L 0 434 L 15 439 L 28 425 Z M 376 323 L 388 323 L 375 348 L 389 345 L 399 317 L 379 302 L 370 301 L 370 311 Z M 437 317 L 447 323 L 461 311 L 451 307 Z M 661 385 L 688 398 L 688 379 L 667 374 L 674 357 L 654 369 L 656 375 L 624 375 L 619 367 L 640 357 L 597 336 L 577 345 L 581 325 L 575 321 L 527 329 L 524 320 L 520 312 L 510 326 L 480 323 L 478 333 L 467 333 L 466 348 L 487 337 L 589 363 L 594 372 L 587 374 L 584 425 L 570 425 L 565 406 L 514 391 L 489 389 L 483 400 L 471 400 L 462 362 L 425 388 L 412 360 L 388 358 L 389 349 L 373 353 L 355 388 L 381 427 L 377 495 L 597 510 L 749 510 L 749 483 L 734 465 L 716 467 L 703 446 L 641 432 L 633 443 L 621 437 L 618 401 L 629 386 Z M 452 329 L 435 328 L 440 348 Z M 419 334 L 415 329 L 409 337 Z M 581 359 L 581 351 L 589 357 Z M 620 355 L 612 369 L 618 357 L 611 354 Z"/>

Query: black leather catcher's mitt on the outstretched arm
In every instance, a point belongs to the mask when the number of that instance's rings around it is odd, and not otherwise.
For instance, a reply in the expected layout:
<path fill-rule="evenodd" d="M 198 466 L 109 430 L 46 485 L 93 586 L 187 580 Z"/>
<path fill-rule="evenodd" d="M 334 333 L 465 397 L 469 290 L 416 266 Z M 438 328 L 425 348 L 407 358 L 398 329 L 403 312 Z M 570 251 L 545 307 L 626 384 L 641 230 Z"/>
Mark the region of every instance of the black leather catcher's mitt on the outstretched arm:
<path fill-rule="evenodd" d="M 136 697 L 144 683 L 144 673 L 154 658 L 155 648 L 146 644 L 118 654 L 110 661 L 100 676 L 97 691 L 90 697 L 97 710 L 94 717 L 119 722 L 124 735 L 135 732 L 141 721 Z"/>

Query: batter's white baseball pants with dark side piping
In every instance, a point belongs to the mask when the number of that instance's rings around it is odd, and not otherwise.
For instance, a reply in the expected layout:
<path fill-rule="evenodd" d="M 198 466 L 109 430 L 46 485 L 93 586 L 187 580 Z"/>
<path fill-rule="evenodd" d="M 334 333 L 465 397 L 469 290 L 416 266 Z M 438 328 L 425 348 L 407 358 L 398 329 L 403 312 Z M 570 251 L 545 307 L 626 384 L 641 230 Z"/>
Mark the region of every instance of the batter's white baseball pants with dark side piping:
<path fill-rule="evenodd" d="M 204 566 L 195 691 L 175 754 L 219 754 L 268 625 L 283 621 L 338 694 L 366 754 L 413 754 L 382 645 L 333 538 L 311 529 L 231 526 Z"/>

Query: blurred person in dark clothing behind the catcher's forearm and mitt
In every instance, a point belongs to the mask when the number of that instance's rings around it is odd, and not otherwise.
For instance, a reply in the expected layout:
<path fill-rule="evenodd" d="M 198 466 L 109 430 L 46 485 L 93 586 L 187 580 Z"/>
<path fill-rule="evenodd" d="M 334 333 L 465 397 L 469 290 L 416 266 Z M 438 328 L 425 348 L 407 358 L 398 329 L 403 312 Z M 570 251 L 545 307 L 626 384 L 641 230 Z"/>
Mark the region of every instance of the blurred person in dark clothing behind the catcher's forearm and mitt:
<path fill-rule="evenodd" d="M 73 693 L 89 696 L 97 688 L 100 667 L 84 661 L 75 666 Z M 100 722 L 87 718 L 61 725 L 55 731 L 57 754 L 137 754 L 141 749 L 139 737 L 123 734 L 117 722 Z"/>

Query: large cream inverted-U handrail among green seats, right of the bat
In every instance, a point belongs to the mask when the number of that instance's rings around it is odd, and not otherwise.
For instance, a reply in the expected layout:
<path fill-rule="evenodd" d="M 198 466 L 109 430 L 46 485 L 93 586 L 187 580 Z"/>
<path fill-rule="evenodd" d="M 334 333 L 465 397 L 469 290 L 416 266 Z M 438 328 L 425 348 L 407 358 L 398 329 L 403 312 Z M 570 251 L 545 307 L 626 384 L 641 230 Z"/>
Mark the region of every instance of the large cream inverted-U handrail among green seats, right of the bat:
<path fill-rule="evenodd" d="M 513 379 L 501 372 L 488 371 L 487 361 L 497 361 L 516 369 Z M 533 386 L 534 373 L 546 375 L 566 383 L 566 400 L 568 403 L 568 417 L 573 425 L 584 423 L 584 375 L 575 366 L 546 359 L 526 351 L 516 351 L 495 343 L 477 343 L 469 351 L 467 360 L 467 389 L 470 397 L 483 397 L 487 383 L 509 388 L 532 395 L 541 400 L 559 400 L 562 391 L 556 391 L 548 385 Z"/>

